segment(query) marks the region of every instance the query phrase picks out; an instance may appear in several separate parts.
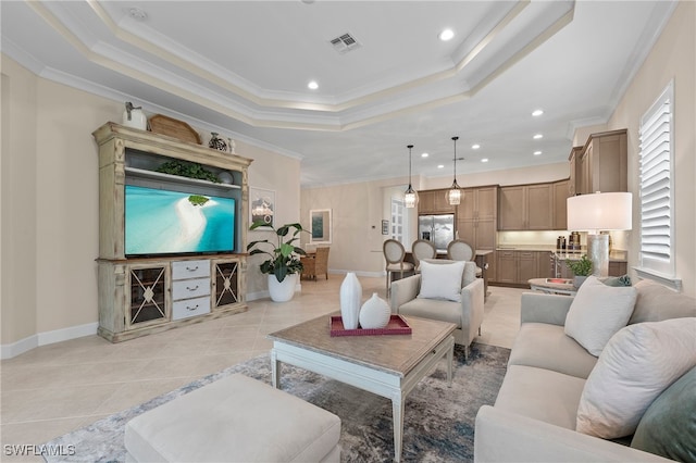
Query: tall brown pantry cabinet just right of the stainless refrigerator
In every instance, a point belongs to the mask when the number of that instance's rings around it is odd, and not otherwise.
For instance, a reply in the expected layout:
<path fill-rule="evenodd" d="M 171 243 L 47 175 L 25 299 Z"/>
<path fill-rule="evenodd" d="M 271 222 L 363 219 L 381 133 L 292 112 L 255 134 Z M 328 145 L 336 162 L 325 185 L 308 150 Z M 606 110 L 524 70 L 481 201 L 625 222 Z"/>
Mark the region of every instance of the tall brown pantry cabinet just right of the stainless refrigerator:
<path fill-rule="evenodd" d="M 494 250 L 496 247 L 496 217 L 498 187 L 467 188 L 457 207 L 459 239 L 474 250 Z"/>

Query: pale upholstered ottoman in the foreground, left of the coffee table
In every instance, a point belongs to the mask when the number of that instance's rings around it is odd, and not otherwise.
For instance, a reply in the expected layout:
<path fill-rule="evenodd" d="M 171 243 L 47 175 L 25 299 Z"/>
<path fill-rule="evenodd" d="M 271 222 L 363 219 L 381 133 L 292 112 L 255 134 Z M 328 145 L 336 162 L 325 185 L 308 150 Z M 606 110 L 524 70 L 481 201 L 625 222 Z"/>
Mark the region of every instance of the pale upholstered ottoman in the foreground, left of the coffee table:
<path fill-rule="evenodd" d="M 127 461 L 339 462 L 340 418 L 244 375 L 220 379 L 126 424 Z"/>

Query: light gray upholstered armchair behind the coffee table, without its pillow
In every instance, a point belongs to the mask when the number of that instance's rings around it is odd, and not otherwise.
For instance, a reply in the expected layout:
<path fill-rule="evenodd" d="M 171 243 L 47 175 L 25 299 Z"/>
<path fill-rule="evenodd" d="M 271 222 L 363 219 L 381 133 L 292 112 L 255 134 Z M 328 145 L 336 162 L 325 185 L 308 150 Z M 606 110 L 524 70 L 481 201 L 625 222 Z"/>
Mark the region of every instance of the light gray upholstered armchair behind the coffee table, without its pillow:
<path fill-rule="evenodd" d="M 453 261 L 444 259 L 425 260 L 435 264 L 448 264 Z M 413 275 L 391 284 L 389 305 L 391 313 L 412 315 L 421 318 L 439 320 L 457 325 L 455 342 L 465 347 L 464 355 L 469 358 L 469 346 L 481 334 L 484 314 L 484 285 L 476 278 L 474 262 L 464 263 L 461 300 L 455 302 L 446 299 L 419 298 L 422 275 Z"/>

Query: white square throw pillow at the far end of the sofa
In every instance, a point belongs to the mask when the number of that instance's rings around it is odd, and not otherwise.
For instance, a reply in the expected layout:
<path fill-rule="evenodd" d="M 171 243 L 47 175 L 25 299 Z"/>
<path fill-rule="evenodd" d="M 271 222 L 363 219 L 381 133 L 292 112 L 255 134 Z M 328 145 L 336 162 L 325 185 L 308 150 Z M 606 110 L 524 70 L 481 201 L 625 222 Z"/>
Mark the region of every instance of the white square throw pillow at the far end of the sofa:
<path fill-rule="evenodd" d="M 568 311 L 566 334 L 599 356 L 609 339 L 629 323 L 636 295 L 633 287 L 607 286 L 588 276 Z"/>

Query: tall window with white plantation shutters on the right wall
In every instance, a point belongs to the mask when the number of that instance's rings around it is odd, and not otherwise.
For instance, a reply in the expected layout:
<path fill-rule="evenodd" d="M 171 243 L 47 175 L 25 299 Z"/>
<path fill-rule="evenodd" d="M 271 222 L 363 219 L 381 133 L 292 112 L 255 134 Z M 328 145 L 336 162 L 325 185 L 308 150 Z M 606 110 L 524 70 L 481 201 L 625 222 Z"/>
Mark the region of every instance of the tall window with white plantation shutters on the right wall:
<path fill-rule="evenodd" d="M 641 265 L 638 273 L 674 277 L 673 82 L 641 120 Z"/>

